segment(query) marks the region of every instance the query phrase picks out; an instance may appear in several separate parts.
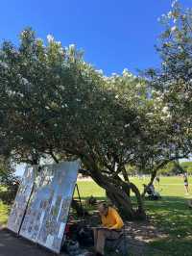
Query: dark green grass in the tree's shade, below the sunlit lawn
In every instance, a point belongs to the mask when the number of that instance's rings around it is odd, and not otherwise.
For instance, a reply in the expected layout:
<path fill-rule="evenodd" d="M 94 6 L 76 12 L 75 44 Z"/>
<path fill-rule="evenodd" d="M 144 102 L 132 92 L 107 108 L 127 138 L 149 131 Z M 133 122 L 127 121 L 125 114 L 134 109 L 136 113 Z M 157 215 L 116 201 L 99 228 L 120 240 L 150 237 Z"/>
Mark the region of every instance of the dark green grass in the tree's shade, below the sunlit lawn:
<path fill-rule="evenodd" d="M 83 197 L 85 201 L 88 197 Z M 98 201 L 106 197 L 96 197 Z M 132 197 L 132 201 L 135 198 Z M 154 237 L 149 245 L 162 253 L 148 255 L 192 255 L 192 210 L 188 208 L 187 199 L 179 196 L 163 196 L 161 200 L 145 200 L 150 224 L 165 235 Z M 94 207 L 88 209 L 94 210 Z M 139 228 L 138 228 L 139 229 Z M 136 232 L 136 231 L 135 231 Z"/>

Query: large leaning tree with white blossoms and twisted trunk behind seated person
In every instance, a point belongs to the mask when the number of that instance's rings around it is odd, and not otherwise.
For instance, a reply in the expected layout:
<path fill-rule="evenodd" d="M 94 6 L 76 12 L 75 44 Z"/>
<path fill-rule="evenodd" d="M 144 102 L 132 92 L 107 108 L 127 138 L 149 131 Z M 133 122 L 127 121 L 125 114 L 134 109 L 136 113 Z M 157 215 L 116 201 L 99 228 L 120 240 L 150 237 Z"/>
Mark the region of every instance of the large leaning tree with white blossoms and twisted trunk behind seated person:
<path fill-rule="evenodd" d="M 18 47 L 1 47 L 0 89 L 0 136 L 14 161 L 79 158 L 127 218 L 145 218 L 126 166 L 152 172 L 153 181 L 174 157 L 177 142 L 151 85 L 127 70 L 106 77 L 74 45 L 63 48 L 51 36 L 44 45 L 26 29 Z"/>

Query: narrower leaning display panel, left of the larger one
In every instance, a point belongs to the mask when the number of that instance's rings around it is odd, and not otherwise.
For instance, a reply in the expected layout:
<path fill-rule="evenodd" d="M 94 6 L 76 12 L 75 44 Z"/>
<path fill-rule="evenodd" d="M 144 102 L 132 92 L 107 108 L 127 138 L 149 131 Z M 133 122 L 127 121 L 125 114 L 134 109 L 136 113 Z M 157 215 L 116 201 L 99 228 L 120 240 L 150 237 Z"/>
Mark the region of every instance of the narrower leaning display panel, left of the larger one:
<path fill-rule="evenodd" d="M 18 234 L 19 232 L 26 207 L 33 190 L 34 180 L 34 167 L 27 166 L 18 192 L 16 193 L 14 203 L 12 205 L 11 215 L 8 220 L 8 229 L 12 230 L 14 233 Z"/>

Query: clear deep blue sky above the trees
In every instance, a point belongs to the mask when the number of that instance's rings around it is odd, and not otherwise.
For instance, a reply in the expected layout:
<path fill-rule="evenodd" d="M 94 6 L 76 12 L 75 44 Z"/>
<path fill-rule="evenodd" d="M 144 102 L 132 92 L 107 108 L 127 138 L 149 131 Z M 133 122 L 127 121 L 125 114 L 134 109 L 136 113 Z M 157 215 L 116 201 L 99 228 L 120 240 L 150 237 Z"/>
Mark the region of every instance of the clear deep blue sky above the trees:
<path fill-rule="evenodd" d="M 27 26 L 38 38 L 48 34 L 64 46 L 84 49 L 85 60 L 105 74 L 132 72 L 159 64 L 154 45 L 162 27 L 157 18 L 171 0 L 7 0 L 1 1 L 0 41 L 18 44 Z M 180 0 L 192 7 L 191 0 Z M 18 168 L 18 172 L 20 168 Z M 20 173 L 20 172 L 19 172 Z"/>

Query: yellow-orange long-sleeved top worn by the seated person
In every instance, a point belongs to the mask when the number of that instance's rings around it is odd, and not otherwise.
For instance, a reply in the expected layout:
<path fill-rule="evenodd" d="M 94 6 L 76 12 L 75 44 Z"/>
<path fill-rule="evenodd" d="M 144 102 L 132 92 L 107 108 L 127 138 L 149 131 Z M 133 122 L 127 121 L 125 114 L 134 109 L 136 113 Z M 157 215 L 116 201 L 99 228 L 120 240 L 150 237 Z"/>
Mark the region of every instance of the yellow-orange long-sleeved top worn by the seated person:
<path fill-rule="evenodd" d="M 121 229 L 124 225 L 122 218 L 112 207 L 108 207 L 107 216 L 102 216 L 102 224 L 110 229 Z"/>

